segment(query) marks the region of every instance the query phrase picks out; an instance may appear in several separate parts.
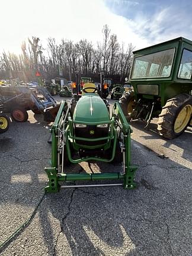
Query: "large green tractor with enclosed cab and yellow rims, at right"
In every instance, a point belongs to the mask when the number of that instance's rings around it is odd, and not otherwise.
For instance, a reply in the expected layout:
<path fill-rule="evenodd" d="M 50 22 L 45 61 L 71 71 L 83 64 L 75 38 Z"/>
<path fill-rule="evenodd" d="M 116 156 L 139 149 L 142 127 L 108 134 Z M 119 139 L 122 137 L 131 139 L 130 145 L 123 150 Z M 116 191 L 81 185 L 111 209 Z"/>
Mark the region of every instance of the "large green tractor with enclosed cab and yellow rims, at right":
<path fill-rule="evenodd" d="M 192 125 L 192 41 L 179 37 L 133 52 L 129 83 L 134 91 L 120 98 L 127 120 L 159 117 L 166 139 Z"/>

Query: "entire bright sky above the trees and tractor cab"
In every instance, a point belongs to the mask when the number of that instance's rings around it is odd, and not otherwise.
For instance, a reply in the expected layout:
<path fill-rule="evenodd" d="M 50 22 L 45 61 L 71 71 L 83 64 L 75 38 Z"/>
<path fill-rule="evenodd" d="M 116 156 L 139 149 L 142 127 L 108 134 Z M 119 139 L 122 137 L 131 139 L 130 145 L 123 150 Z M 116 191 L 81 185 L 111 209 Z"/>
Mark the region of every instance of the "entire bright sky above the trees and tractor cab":
<path fill-rule="evenodd" d="M 119 43 L 135 49 L 186 37 L 192 40 L 190 0 L 6 0 L 1 1 L 0 53 L 21 53 L 21 43 L 39 37 L 77 42 L 103 40 L 104 24 Z"/>

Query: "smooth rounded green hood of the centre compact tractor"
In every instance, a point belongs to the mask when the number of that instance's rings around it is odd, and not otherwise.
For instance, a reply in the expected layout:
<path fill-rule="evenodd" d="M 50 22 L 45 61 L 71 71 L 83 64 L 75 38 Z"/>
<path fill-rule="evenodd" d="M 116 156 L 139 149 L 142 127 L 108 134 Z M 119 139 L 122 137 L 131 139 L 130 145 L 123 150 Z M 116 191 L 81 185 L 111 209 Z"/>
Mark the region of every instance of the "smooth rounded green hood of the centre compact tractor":
<path fill-rule="evenodd" d="M 100 123 L 109 121 L 110 115 L 107 106 L 99 95 L 83 95 L 76 104 L 73 120 L 86 123 Z"/>

